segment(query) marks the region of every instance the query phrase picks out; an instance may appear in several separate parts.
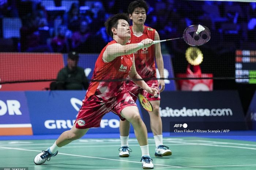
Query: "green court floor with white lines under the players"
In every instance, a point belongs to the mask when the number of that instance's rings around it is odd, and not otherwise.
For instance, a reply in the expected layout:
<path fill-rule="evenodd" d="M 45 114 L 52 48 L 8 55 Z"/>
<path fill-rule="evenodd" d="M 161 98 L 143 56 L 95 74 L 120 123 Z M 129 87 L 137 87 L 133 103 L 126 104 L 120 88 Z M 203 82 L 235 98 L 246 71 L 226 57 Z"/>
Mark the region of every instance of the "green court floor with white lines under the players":
<path fill-rule="evenodd" d="M 158 170 L 255 170 L 256 142 L 204 137 L 164 138 L 172 156 L 155 157 L 154 139 L 149 139 L 154 169 Z M 129 139 L 129 158 L 118 157 L 119 139 L 80 139 L 64 146 L 43 165 L 33 159 L 54 140 L 0 141 L 0 169 L 29 167 L 29 170 L 133 170 L 142 169 L 136 139 Z"/>

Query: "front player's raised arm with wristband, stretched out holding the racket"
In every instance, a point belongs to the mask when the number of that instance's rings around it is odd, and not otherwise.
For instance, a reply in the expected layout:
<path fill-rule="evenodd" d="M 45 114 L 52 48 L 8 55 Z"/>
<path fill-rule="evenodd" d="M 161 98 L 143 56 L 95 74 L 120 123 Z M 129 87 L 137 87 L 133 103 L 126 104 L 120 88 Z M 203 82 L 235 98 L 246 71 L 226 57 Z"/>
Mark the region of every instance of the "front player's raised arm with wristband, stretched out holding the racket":
<path fill-rule="evenodd" d="M 151 46 L 153 43 L 152 39 L 146 38 L 143 39 L 140 43 L 136 44 L 128 44 L 128 45 L 121 45 L 118 43 L 111 44 L 107 46 L 105 52 L 103 53 L 103 60 L 110 62 L 114 60 L 118 56 L 123 56 L 127 54 L 134 53 L 142 48 L 147 48 Z"/>

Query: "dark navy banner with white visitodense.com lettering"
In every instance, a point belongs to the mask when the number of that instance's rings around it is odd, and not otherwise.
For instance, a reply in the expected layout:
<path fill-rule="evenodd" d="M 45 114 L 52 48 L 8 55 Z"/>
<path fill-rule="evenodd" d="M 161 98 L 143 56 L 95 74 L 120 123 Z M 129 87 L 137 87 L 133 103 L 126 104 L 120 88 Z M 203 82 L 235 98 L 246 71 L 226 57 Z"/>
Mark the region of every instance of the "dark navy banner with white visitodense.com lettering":
<path fill-rule="evenodd" d="M 148 112 L 142 110 L 143 120 L 150 129 Z M 191 122 L 195 127 L 215 122 L 228 122 L 230 130 L 246 129 L 244 113 L 237 91 L 164 91 L 161 93 L 160 116 L 163 131 L 172 131 L 170 126 Z M 200 123 L 199 123 L 200 122 Z M 212 125 L 211 125 L 212 126 Z"/>

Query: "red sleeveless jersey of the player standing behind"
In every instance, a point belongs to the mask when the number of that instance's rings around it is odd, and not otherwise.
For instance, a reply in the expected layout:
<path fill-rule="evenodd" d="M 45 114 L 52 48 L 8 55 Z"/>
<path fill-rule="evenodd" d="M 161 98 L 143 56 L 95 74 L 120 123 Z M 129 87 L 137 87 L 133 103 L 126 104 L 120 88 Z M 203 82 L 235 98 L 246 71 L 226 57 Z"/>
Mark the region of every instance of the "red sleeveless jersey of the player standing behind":
<path fill-rule="evenodd" d="M 127 44 L 139 43 L 143 39 L 150 38 L 155 39 L 155 29 L 152 29 L 148 26 L 144 26 L 143 33 L 141 35 L 135 35 L 131 29 L 131 39 Z M 155 46 L 151 45 L 148 48 L 143 48 L 134 53 L 135 57 L 135 66 L 138 74 L 142 78 L 156 78 L 155 70 Z"/>

